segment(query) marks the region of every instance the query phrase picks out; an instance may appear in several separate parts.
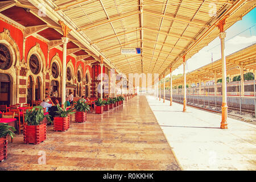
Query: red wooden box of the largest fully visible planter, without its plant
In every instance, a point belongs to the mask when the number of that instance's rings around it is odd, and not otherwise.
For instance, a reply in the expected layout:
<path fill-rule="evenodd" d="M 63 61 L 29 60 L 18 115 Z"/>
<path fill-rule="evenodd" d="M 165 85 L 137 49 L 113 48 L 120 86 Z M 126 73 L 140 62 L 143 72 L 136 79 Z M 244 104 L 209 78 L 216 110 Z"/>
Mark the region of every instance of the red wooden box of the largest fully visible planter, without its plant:
<path fill-rule="evenodd" d="M 39 144 L 46 140 L 46 123 L 41 125 L 28 126 L 26 123 L 23 130 L 24 143 Z"/>

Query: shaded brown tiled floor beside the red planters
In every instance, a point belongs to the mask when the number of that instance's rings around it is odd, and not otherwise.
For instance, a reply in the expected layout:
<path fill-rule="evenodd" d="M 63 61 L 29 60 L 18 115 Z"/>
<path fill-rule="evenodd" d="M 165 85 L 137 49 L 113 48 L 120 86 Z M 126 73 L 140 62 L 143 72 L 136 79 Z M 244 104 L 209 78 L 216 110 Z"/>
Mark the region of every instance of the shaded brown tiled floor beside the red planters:
<path fill-rule="evenodd" d="M 65 132 L 47 126 L 47 139 L 37 145 L 24 144 L 18 135 L 8 150 L 0 170 L 181 169 L 144 96 L 88 114 L 85 123 L 72 122 Z M 46 164 L 38 164 L 40 152 Z"/>

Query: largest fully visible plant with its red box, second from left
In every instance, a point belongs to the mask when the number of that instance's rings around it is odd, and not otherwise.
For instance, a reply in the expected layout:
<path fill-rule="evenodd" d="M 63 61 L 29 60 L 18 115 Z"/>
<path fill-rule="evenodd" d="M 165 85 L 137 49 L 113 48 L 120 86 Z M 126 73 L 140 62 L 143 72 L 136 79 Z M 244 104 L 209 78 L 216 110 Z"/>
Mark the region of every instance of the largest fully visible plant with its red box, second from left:
<path fill-rule="evenodd" d="M 49 114 L 44 115 L 42 106 L 35 106 L 31 110 L 26 110 L 23 130 L 24 143 L 39 144 L 46 140 L 47 123 L 42 123 L 44 118 L 52 122 Z"/>

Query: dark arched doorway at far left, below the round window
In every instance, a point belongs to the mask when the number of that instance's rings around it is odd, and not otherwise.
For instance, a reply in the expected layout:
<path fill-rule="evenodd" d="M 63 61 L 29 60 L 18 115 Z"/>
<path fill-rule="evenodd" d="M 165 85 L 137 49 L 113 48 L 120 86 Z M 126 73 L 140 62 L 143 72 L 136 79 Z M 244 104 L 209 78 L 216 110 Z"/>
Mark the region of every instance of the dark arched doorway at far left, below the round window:
<path fill-rule="evenodd" d="M 0 73 L 0 105 L 10 105 L 11 79 L 7 74 Z"/>

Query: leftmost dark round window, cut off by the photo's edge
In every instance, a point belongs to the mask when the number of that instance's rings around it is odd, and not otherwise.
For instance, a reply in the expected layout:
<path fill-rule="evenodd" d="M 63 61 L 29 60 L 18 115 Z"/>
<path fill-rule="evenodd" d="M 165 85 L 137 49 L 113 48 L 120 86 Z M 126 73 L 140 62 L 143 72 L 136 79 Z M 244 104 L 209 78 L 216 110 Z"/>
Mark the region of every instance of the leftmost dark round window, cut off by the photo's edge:
<path fill-rule="evenodd" d="M 11 53 L 9 49 L 0 44 L 0 69 L 9 69 L 11 67 Z"/>

